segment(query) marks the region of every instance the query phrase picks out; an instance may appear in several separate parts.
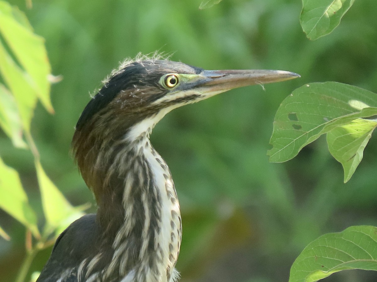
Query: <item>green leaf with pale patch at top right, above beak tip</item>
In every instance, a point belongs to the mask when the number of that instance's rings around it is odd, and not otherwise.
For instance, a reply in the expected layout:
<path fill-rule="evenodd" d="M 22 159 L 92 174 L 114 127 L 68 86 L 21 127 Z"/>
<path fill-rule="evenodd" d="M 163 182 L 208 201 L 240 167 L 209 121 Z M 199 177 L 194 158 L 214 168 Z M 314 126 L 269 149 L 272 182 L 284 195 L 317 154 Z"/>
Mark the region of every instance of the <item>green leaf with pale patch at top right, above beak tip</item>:
<path fill-rule="evenodd" d="M 300 23 L 311 40 L 331 33 L 355 0 L 302 0 Z"/>

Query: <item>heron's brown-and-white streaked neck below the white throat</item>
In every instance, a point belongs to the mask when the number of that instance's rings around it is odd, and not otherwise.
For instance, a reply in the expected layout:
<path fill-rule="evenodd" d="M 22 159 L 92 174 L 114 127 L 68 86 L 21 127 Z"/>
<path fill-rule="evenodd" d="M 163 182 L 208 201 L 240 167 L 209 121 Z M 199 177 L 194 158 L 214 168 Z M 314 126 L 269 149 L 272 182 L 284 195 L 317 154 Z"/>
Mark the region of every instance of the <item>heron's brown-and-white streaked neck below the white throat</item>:
<path fill-rule="evenodd" d="M 130 136 L 114 142 L 107 153 L 113 157 L 108 158 L 102 196 L 96 195 L 103 238 L 113 238 L 113 268 L 119 268 L 109 269 L 109 276 L 120 271 L 135 281 L 170 281 L 181 242 L 172 176 L 150 144 L 149 131 Z M 119 261 L 123 265 L 116 265 Z"/>

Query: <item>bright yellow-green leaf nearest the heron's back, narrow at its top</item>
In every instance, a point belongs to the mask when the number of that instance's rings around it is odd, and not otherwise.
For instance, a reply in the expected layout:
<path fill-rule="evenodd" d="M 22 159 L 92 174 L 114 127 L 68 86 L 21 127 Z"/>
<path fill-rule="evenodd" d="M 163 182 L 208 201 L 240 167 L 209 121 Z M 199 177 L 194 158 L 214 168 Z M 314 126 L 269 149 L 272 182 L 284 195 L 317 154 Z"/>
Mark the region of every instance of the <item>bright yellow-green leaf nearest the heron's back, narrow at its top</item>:
<path fill-rule="evenodd" d="M 74 208 L 44 172 L 40 162 L 35 162 L 46 230 L 60 234 L 72 221 L 83 216 L 83 207 Z M 49 232 L 49 231 L 48 231 Z"/>

